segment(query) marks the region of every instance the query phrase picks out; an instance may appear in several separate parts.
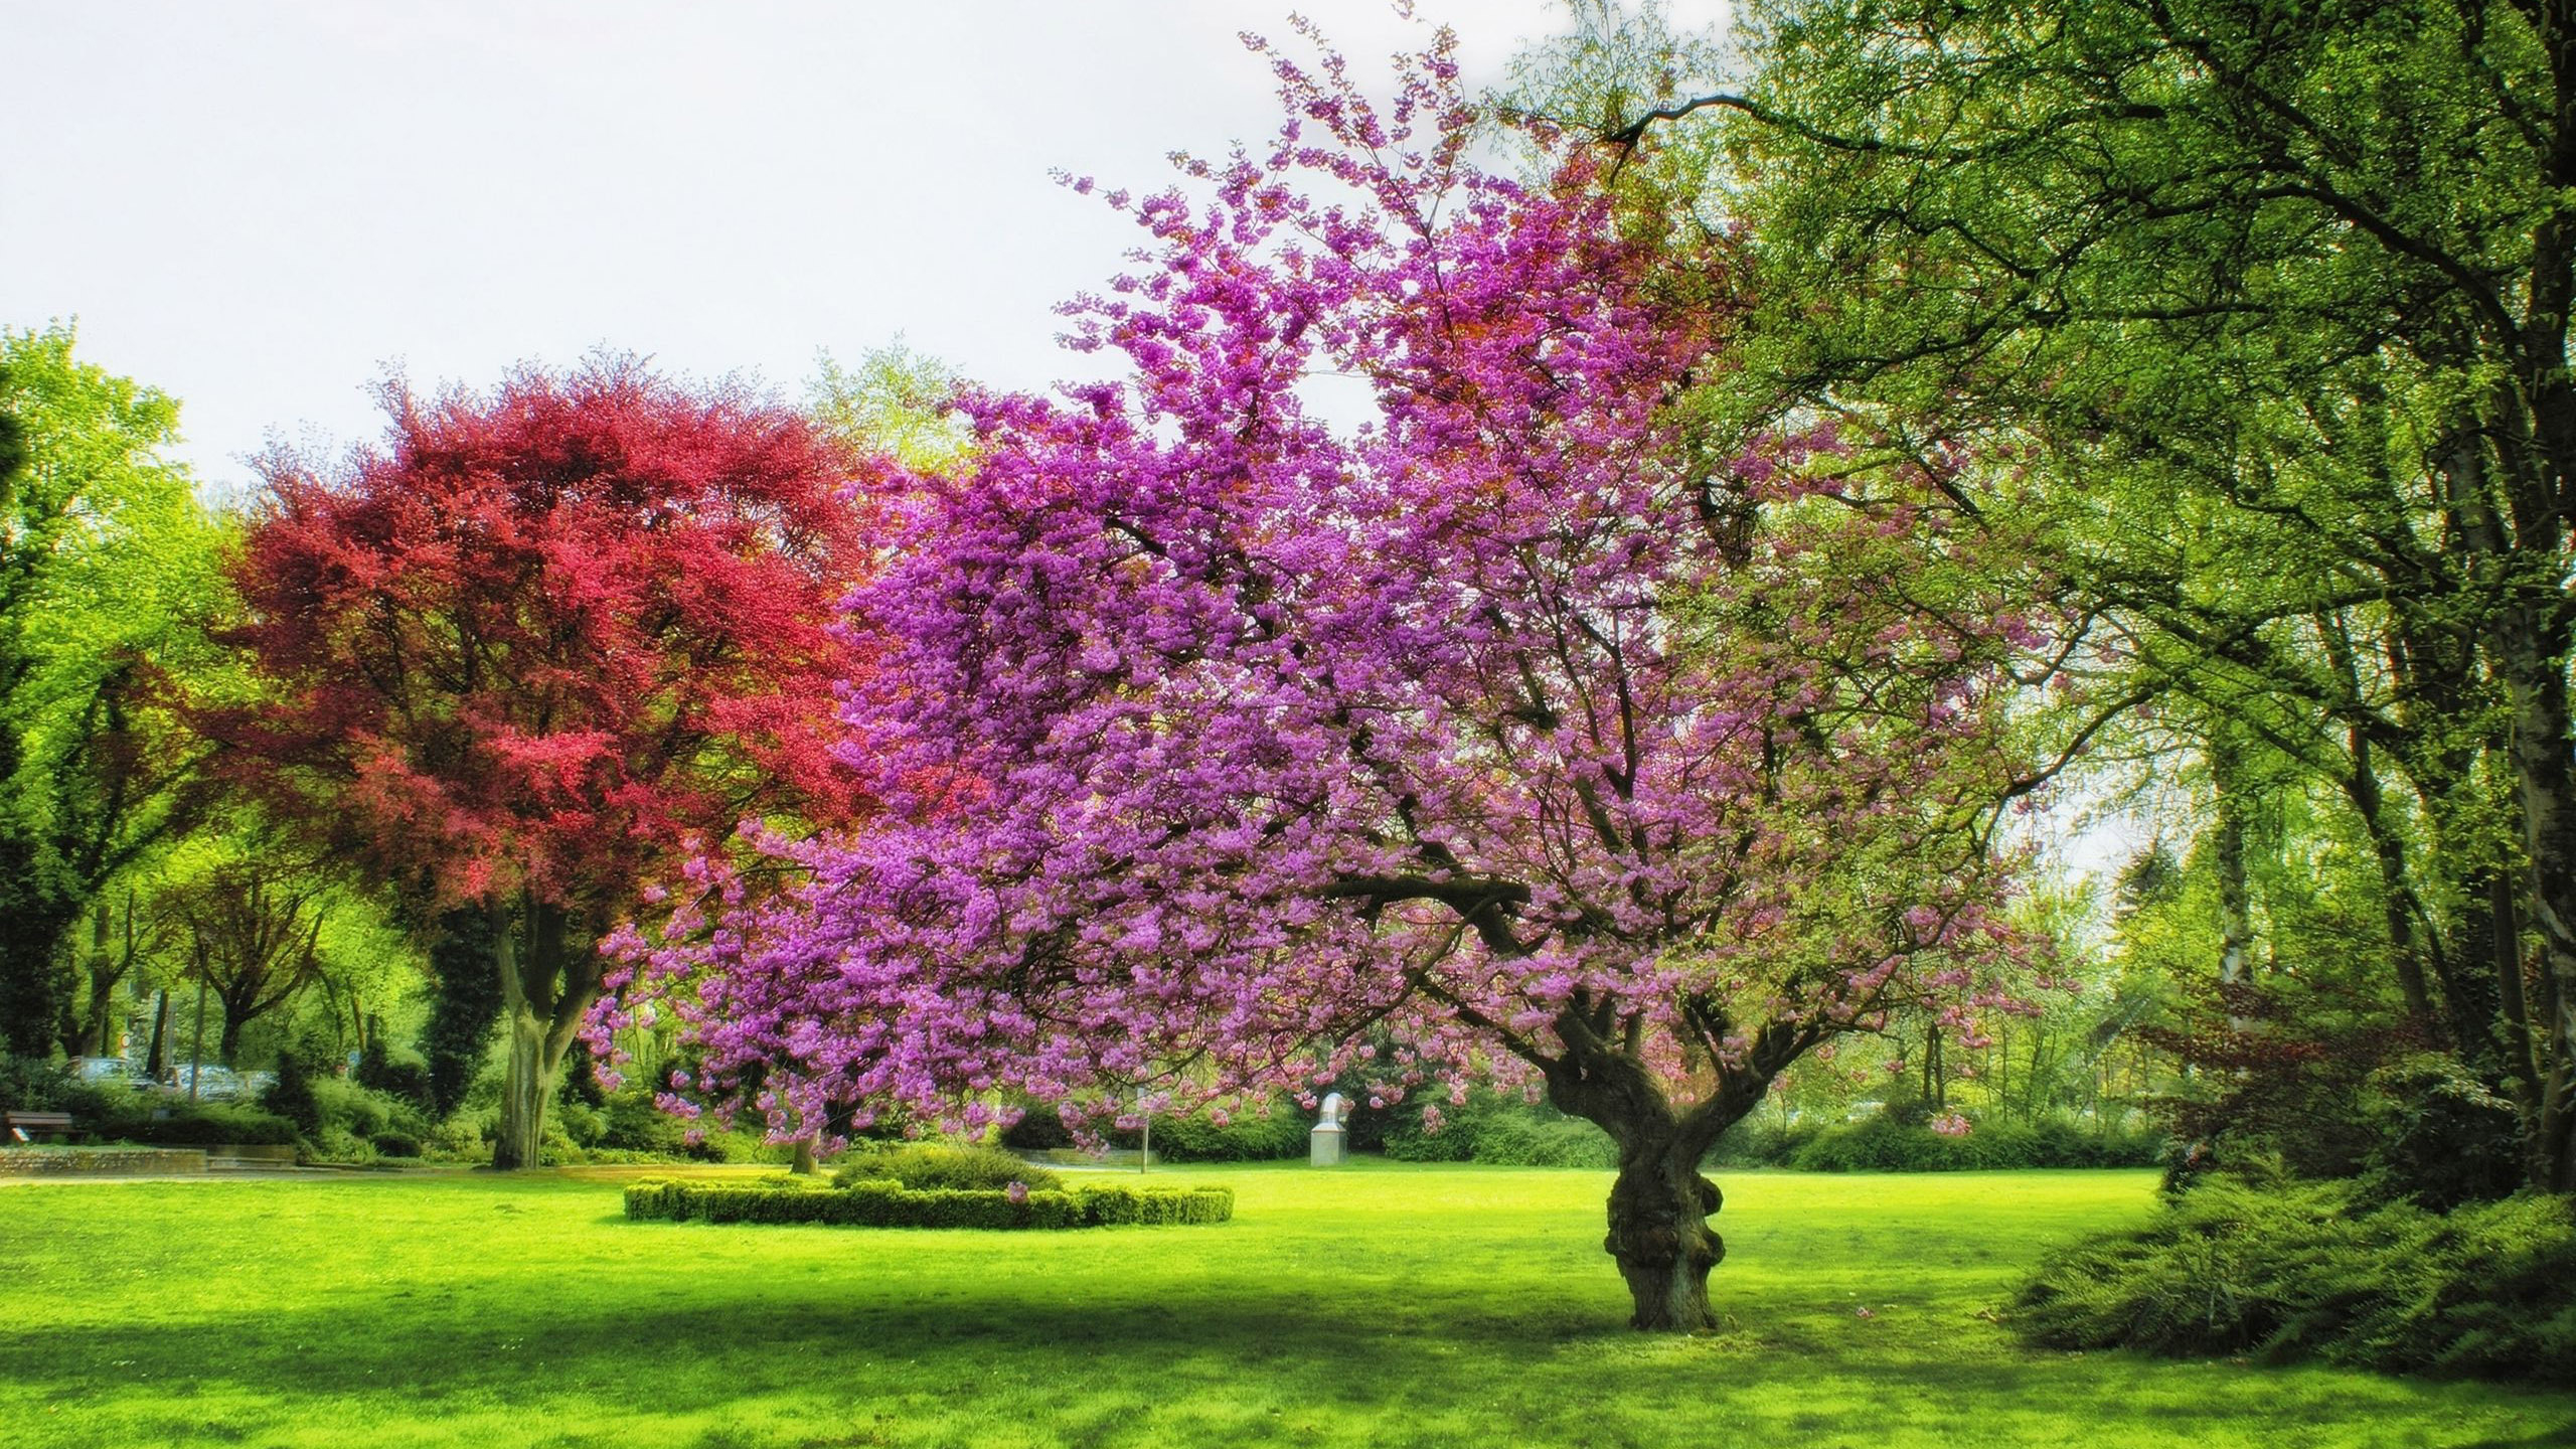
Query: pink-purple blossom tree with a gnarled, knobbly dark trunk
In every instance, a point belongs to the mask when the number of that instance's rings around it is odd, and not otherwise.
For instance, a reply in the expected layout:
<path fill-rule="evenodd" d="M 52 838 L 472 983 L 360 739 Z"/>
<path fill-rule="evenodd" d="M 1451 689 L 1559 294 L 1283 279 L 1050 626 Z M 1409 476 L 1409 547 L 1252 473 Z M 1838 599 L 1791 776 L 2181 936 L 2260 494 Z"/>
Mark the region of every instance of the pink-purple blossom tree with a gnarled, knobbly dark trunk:
<path fill-rule="evenodd" d="M 1273 64 L 1275 150 L 1108 199 L 1151 245 L 1069 315 L 1126 382 L 963 397 L 976 459 L 850 598 L 884 815 L 768 841 L 783 895 L 701 866 L 623 1003 L 781 1132 L 1522 1083 L 1618 1142 L 1633 1323 L 1708 1325 L 1718 1134 L 1844 1031 L 2009 998 L 2022 627 L 1929 477 L 1710 451 L 1723 242 L 1546 134 L 1476 170 L 1445 39 L 1388 108 Z"/>

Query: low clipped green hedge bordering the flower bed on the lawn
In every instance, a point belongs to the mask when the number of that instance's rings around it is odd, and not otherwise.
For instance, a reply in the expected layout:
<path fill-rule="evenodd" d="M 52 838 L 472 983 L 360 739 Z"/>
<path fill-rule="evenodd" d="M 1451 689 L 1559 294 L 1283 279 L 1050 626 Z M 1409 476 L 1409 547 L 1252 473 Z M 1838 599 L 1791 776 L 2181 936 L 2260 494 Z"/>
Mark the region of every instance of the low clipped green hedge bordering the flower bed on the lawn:
<path fill-rule="evenodd" d="M 636 1222 L 824 1222 L 832 1227 L 1113 1227 L 1198 1225 L 1234 1217 L 1234 1189 L 1077 1186 L 1030 1191 L 927 1189 L 884 1178 L 842 1189 L 636 1183 L 626 1189 Z"/>

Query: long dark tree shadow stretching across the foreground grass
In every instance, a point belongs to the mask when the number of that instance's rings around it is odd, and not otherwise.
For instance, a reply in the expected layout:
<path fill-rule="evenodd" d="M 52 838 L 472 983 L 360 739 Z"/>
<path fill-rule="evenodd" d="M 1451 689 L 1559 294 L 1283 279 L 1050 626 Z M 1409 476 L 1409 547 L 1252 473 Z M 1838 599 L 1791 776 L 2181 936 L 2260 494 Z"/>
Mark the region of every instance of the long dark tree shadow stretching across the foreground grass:
<path fill-rule="evenodd" d="M 1012 1294 L 994 1292 L 992 1279 L 873 1302 L 853 1302 L 848 1281 L 786 1276 L 538 1287 L 551 1292 L 531 1297 L 528 1284 L 510 1284 L 402 1302 L 343 1297 L 240 1325 L 10 1328 L 0 1330 L 0 1379 L 44 1385 L 62 1400 L 134 1385 L 170 1395 L 222 1387 L 289 1403 L 404 1395 L 415 1413 L 438 1415 L 443 1403 L 541 1410 L 574 1395 L 616 1400 L 626 1413 L 685 1415 L 781 1395 L 829 1392 L 855 1405 L 917 1395 L 922 1385 L 969 1392 L 1007 1369 L 1020 1385 L 1066 1397 L 1249 1395 L 1363 1415 L 1396 1397 L 1471 1405 L 1497 1395 L 1595 1418 L 1687 1418 L 1698 1408 L 1765 1423 L 1785 1441 L 1973 1415 L 1994 1428 L 1994 1444 L 2017 1439 L 2007 1423 L 2014 1415 L 2032 1428 L 2081 1415 L 2102 1444 L 2187 1444 L 2213 1426 L 2269 1426 L 2308 1441 L 2318 1423 L 2362 1423 L 2385 1410 L 2442 1415 L 2439 1400 L 2468 1390 L 2486 1405 L 2499 1395 L 2524 1403 L 2532 1423 L 2530 1436 L 2486 1439 L 2481 1449 L 2576 1439 L 2568 1395 L 2027 1354 L 1999 1348 L 1991 1333 L 1965 1346 L 1940 1330 L 1880 1333 L 1824 1307 L 1682 1341 L 1628 1333 L 1592 1297 L 1497 1305 L 1473 1284 L 1419 1294 L 1370 1284 L 1337 1297 L 1311 1279 L 1213 1281 L 1087 1302 L 1041 1297 L 1066 1284 L 1025 1281 Z M 1097 1294 L 1095 1281 L 1079 1287 Z"/>

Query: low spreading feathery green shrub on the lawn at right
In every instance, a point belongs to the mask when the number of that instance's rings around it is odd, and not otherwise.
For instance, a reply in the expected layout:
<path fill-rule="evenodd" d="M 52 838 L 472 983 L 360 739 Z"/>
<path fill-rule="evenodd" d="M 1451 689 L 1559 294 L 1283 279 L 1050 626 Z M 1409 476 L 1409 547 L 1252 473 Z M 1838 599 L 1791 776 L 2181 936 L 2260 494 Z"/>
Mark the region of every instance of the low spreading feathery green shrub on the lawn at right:
<path fill-rule="evenodd" d="M 2058 1348 L 2576 1382 L 2576 1204 L 2362 1201 L 2344 1181 L 2210 1176 L 2045 1261 L 2012 1318 Z"/>

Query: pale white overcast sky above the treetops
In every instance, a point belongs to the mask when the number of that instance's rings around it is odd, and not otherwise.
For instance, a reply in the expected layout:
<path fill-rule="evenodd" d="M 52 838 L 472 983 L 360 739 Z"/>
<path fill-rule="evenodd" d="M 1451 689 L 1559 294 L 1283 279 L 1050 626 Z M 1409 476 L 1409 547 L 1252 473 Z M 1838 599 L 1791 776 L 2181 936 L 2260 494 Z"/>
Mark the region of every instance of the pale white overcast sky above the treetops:
<path fill-rule="evenodd" d="M 209 492 L 270 436 L 376 436 L 371 384 L 636 351 L 799 392 L 904 335 L 961 371 L 1074 369 L 1054 304 L 1136 232 L 1051 170 L 1151 191 L 1262 142 L 1236 31 L 1316 18 L 1360 75 L 1386 0 L 0 0 L 0 322 L 183 400 Z M 1674 5 L 1716 18 L 1721 0 Z M 1548 0 L 1422 0 L 1468 83 Z"/>

